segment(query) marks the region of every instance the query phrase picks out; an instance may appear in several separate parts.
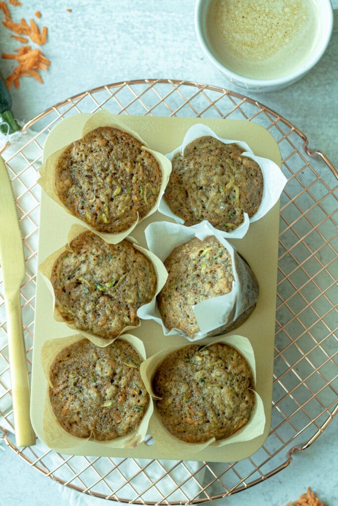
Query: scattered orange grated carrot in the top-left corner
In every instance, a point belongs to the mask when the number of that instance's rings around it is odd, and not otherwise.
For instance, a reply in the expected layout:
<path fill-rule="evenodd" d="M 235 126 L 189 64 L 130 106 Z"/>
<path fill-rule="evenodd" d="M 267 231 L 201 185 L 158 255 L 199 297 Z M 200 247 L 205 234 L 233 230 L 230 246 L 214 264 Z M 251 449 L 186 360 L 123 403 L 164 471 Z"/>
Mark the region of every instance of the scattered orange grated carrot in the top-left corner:
<path fill-rule="evenodd" d="M 21 3 L 18 2 L 18 0 L 9 0 L 9 2 L 11 5 L 21 6 Z M 24 18 L 22 18 L 19 23 L 15 23 L 12 21 L 6 2 L 0 2 L 0 11 L 2 11 L 5 16 L 5 21 L 2 22 L 3 25 L 17 34 L 11 35 L 12 38 L 18 40 L 22 44 L 28 43 L 27 37 L 29 37 L 31 41 L 38 46 L 46 44 L 48 36 L 47 26 L 43 26 L 40 31 L 33 19 L 30 19 L 28 24 Z M 36 11 L 35 16 L 40 18 L 41 12 Z M 26 36 L 22 37 L 21 35 Z M 14 54 L 3 53 L 2 58 L 18 62 L 17 67 L 14 68 L 13 72 L 6 79 L 8 88 L 10 88 L 12 84 L 15 88 L 19 88 L 19 79 L 24 76 L 34 77 L 37 81 L 44 82 L 43 78 L 37 71 L 47 70 L 51 64 L 40 49 L 32 49 L 30 46 L 21 46 L 20 48 L 14 50 Z"/>

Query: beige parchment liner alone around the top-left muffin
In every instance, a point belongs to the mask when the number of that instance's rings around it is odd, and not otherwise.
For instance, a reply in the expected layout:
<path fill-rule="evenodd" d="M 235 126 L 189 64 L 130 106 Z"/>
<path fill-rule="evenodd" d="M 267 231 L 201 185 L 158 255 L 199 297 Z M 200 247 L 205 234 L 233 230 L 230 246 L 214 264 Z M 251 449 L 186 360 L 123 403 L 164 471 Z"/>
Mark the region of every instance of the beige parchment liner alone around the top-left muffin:
<path fill-rule="evenodd" d="M 56 187 L 55 187 L 55 169 L 56 169 L 56 163 L 63 152 L 63 150 L 68 146 L 69 144 L 65 144 L 62 148 L 58 149 L 54 153 L 52 153 L 47 160 L 41 165 L 40 167 L 40 178 L 37 180 L 37 183 L 40 184 L 40 186 L 43 188 L 43 190 L 47 193 L 47 195 L 52 198 L 57 204 L 59 204 L 67 214 L 71 215 L 73 217 L 74 223 L 81 224 L 82 226 L 86 227 L 89 230 L 92 230 L 97 235 L 102 237 L 106 242 L 111 244 L 117 244 L 118 242 L 121 242 L 122 239 L 127 237 L 130 232 L 136 227 L 136 225 L 147 218 L 148 216 L 151 216 L 153 213 L 156 212 L 158 209 L 158 206 L 160 204 L 160 200 L 162 198 L 162 195 L 164 193 L 164 190 L 168 184 L 169 176 L 171 173 L 171 161 L 164 156 L 159 151 L 155 151 L 151 149 L 142 139 L 141 137 L 134 132 L 134 130 L 128 128 L 125 124 L 122 122 L 119 122 L 115 116 L 110 114 L 109 111 L 102 109 L 96 113 L 94 113 L 85 123 L 82 130 L 82 136 L 84 137 L 88 132 L 91 132 L 92 130 L 95 130 L 99 126 L 111 126 L 113 128 L 117 128 L 119 130 L 123 130 L 124 132 L 127 132 L 128 134 L 131 134 L 136 139 L 138 139 L 142 143 L 142 149 L 144 151 L 147 151 L 151 153 L 155 159 L 158 161 L 160 170 L 162 173 L 162 183 L 159 191 L 159 195 L 157 198 L 157 201 L 153 208 L 149 211 L 149 213 L 143 218 L 138 218 L 135 223 L 129 227 L 127 230 L 123 232 L 118 233 L 107 233 L 107 232 L 100 232 L 98 230 L 95 230 L 93 227 L 91 227 L 89 224 L 85 223 L 84 221 L 80 220 L 76 216 L 72 215 L 70 210 L 64 205 L 64 203 L 59 198 Z M 81 138 L 80 137 L 80 138 Z"/>

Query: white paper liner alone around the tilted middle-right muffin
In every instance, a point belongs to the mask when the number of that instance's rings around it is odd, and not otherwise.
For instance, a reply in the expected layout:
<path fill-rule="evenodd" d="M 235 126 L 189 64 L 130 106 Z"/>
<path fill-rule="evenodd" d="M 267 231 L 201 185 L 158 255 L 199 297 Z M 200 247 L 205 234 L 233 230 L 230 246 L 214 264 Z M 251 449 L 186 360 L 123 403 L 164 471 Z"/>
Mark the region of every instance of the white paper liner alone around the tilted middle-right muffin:
<path fill-rule="evenodd" d="M 212 227 L 209 222 L 204 221 L 192 227 L 185 227 L 177 223 L 154 222 L 146 227 L 144 233 L 148 248 L 162 261 L 169 256 L 175 247 L 188 242 L 193 237 L 203 240 L 210 235 L 214 235 L 229 251 L 233 264 L 235 281 L 233 281 L 232 290 L 225 295 L 208 299 L 193 306 L 200 327 L 200 332 L 196 334 L 195 338 L 191 338 L 185 332 L 176 328 L 168 330 L 163 324 L 155 300 L 146 308 L 144 306 L 140 308 L 140 317 L 144 320 L 155 320 L 162 325 L 164 335 L 180 334 L 189 341 L 197 341 L 210 335 L 224 333 L 228 327 L 229 330 L 234 328 L 230 327 L 232 323 L 256 301 L 257 298 L 253 301 L 250 293 L 243 286 L 243 282 L 247 277 L 246 264 L 237 254 L 236 248 L 224 239 L 220 232 Z"/>

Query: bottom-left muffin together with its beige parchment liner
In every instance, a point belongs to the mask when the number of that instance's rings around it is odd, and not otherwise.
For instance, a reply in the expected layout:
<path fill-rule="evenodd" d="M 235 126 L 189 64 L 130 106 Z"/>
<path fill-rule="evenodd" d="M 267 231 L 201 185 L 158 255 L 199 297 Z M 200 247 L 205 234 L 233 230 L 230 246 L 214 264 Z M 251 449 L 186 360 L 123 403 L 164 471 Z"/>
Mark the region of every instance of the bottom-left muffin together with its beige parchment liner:
<path fill-rule="evenodd" d="M 141 443 L 153 413 L 139 372 L 143 360 L 143 343 L 130 334 L 104 347 L 81 334 L 46 341 L 41 362 L 47 379 L 47 445 L 73 448 L 95 441 L 134 448 Z"/>

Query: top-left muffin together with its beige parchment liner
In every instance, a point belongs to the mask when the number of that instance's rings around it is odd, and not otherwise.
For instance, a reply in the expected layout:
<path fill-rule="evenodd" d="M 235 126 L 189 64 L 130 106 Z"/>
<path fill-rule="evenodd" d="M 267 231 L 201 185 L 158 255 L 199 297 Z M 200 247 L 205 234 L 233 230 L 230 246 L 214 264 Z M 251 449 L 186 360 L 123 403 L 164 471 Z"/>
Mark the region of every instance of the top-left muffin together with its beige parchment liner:
<path fill-rule="evenodd" d="M 171 162 L 107 110 L 93 114 L 82 138 L 44 161 L 38 183 L 74 222 L 118 243 L 155 213 Z"/>

